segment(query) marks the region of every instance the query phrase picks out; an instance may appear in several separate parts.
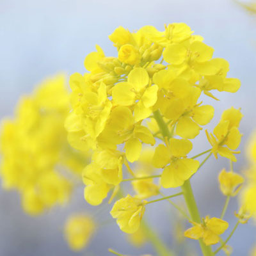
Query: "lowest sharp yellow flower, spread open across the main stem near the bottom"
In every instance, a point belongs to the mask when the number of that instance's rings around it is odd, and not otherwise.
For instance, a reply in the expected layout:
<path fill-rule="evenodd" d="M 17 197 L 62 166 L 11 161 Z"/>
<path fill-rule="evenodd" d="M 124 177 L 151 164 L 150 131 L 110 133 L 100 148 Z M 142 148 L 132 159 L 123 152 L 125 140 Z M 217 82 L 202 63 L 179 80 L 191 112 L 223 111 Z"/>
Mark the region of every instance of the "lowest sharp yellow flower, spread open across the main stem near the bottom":
<path fill-rule="evenodd" d="M 191 239 L 202 238 L 206 245 L 216 244 L 220 241 L 220 235 L 228 228 L 227 221 L 206 216 L 201 224 L 194 223 L 194 227 L 185 231 L 184 236 Z"/>

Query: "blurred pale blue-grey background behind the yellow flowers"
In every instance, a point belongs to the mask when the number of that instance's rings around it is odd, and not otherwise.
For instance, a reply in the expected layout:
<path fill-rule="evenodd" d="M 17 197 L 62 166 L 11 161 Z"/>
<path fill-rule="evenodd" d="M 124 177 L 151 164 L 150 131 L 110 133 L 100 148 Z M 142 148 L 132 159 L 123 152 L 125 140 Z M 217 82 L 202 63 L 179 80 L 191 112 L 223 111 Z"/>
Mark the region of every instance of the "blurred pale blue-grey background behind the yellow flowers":
<path fill-rule="evenodd" d="M 242 86 L 236 94 L 217 94 L 220 102 L 211 99 L 206 102 L 216 108 L 209 129 L 216 125 L 224 109 L 242 108 L 242 154 L 234 168 L 243 170 L 246 167 L 243 148 L 249 134 L 256 129 L 256 16 L 232 0 L 0 0 L 0 117 L 12 115 L 20 95 L 31 92 L 45 76 L 60 71 L 66 72 L 67 77 L 73 72 L 83 73 L 84 57 L 94 51 L 95 44 L 106 55 L 115 56 L 108 35 L 117 26 L 134 30 L 153 25 L 163 29 L 164 23 L 172 22 L 186 22 L 195 34 L 204 36 L 205 43 L 214 47 L 214 56 L 229 61 L 229 77 L 241 79 Z M 196 139 L 194 152 L 208 149 L 206 143 L 202 134 Z M 218 190 L 217 176 L 223 166 L 228 168 L 227 159 L 216 161 L 212 157 L 193 178 L 203 214 L 220 215 L 225 199 Z M 236 209 L 237 202 L 232 200 L 226 216 L 231 226 L 236 221 Z M 114 222 L 100 229 L 86 252 L 71 252 L 63 239 L 62 227 L 68 214 L 77 211 L 94 211 L 83 200 L 82 187 L 77 188 L 68 207 L 55 207 L 36 218 L 22 212 L 15 191 L 1 189 L 0 255 L 105 256 L 109 247 L 133 255 L 153 253 L 150 245 L 141 250 L 132 248 Z M 168 244 L 172 244 L 170 212 L 170 205 L 162 202 L 151 205 L 146 214 Z M 99 219 L 111 220 L 108 209 Z M 250 225 L 241 225 L 230 240 L 234 256 L 248 255 L 255 243 L 256 227 Z"/>

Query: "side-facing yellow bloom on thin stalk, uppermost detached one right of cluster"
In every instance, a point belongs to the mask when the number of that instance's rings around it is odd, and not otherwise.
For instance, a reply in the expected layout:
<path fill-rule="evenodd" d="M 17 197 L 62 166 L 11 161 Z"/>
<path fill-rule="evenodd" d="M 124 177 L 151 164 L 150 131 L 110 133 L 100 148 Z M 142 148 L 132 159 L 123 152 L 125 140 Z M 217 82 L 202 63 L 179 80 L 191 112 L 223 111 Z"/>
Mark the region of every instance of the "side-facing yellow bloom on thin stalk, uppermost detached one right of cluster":
<path fill-rule="evenodd" d="M 216 158 L 220 154 L 220 156 L 236 162 L 234 154 L 239 154 L 239 152 L 233 150 L 236 150 L 241 141 L 242 134 L 239 132 L 238 126 L 242 117 L 240 109 L 227 109 L 223 112 L 220 123 L 214 128 L 213 134 L 205 131 L 207 139 L 212 145 L 212 153 Z"/>

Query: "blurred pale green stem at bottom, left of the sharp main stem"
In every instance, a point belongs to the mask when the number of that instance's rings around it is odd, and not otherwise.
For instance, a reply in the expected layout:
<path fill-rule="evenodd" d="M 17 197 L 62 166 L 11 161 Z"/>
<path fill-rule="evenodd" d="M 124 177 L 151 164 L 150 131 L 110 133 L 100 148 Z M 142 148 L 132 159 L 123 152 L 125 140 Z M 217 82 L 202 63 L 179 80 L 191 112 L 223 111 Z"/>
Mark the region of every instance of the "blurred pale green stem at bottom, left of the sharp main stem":
<path fill-rule="evenodd" d="M 145 235 L 147 239 L 152 243 L 154 246 L 156 253 L 158 256 L 172 256 L 173 253 L 170 249 L 163 243 L 163 241 L 159 238 L 159 235 L 154 232 L 152 228 L 150 228 L 146 221 L 141 221 L 141 228 L 145 231 Z"/>

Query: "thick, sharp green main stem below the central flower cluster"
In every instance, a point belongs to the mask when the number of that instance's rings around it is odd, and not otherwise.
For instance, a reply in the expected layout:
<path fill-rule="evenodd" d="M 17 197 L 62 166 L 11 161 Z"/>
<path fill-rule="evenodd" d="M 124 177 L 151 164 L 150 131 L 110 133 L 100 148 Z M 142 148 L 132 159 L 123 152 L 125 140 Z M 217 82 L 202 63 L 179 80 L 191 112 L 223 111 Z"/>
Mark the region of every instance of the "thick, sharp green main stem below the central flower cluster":
<path fill-rule="evenodd" d="M 190 181 L 186 180 L 181 188 L 183 191 L 184 198 L 186 200 L 186 204 L 188 206 L 188 211 L 191 216 L 191 220 L 195 221 L 196 223 L 201 223 L 200 213 L 196 205 L 195 196 L 193 195 L 193 190 L 191 188 Z M 202 239 L 199 239 L 199 244 L 204 256 L 213 255 L 211 246 L 206 246 Z"/>

